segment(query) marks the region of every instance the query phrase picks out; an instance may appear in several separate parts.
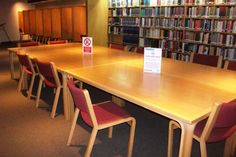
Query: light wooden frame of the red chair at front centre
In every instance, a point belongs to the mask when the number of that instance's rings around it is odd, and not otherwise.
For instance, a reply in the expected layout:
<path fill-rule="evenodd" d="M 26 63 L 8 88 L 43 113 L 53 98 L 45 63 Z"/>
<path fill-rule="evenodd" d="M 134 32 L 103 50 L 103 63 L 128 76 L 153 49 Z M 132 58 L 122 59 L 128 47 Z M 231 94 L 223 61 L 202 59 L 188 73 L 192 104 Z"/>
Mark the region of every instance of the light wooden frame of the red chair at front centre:
<path fill-rule="evenodd" d="M 84 95 L 85 95 L 85 99 L 87 102 L 87 106 L 88 106 L 88 112 L 91 116 L 91 121 L 93 124 L 93 129 L 92 129 L 92 133 L 88 142 L 88 146 L 86 148 L 86 152 L 85 152 L 85 157 L 90 157 L 90 154 L 92 152 L 92 148 L 96 139 L 96 135 L 97 132 L 101 129 L 105 129 L 105 128 L 109 128 L 108 130 L 108 137 L 112 138 L 112 132 L 113 132 L 113 126 L 118 125 L 118 124 L 122 124 L 122 123 L 128 123 L 130 125 L 130 135 L 129 135 L 129 142 L 128 142 L 128 157 L 132 156 L 132 150 L 133 150 L 133 143 L 134 143 L 134 135 L 135 135 L 135 126 L 136 126 L 136 120 L 133 117 L 127 117 L 127 118 L 123 118 L 117 121 L 113 121 L 113 122 L 109 122 L 103 125 L 98 125 L 96 117 L 95 117 L 95 113 L 93 110 L 93 105 L 89 96 L 89 92 L 85 89 L 83 90 Z M 97 104 L 99 105 L 99 104 Z M 69 138 L 67 141 L 67 145 L 69 146 L 71 144 L 71 140 L 72 140 L 72 136 L 75 130 L 75 125 L 78 119 L 78 115 L 79 115 L 80 110 L 78 108 L 76 108 L 75 113 L 74 113 L 74 117 L 73 117 L 73 121 L 72 121 L 72 125 L 71 125 L 71 130 L 70 130 L 70 134 L 69 134 Z"/>

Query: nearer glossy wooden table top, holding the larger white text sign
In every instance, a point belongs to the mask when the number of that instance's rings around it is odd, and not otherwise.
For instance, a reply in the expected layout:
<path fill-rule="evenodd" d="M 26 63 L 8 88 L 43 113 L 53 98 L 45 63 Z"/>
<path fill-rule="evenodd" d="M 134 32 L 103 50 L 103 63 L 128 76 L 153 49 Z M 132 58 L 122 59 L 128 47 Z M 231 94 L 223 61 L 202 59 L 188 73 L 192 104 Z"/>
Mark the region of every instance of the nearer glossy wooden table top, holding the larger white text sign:
<path fill-rule="evenodd" d="M 146 109 L 192 124 L 215 102 L 236 97 L 236 72 L 163 58 L 161 74 L 143 72 L 143 59 L 67 71 L 83 82 Z"/>

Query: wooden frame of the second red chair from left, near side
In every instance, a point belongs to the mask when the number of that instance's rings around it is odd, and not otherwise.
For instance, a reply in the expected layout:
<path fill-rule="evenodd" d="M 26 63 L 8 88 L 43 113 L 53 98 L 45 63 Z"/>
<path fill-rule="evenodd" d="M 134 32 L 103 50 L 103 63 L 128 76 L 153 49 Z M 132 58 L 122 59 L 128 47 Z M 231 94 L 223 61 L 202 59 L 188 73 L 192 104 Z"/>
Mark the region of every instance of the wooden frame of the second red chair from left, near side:
<path fill-rule="evenodd" d="M 53 71 L 53 76 L 54 76 L 55 83 L 56 83 L 56 92 L 55 92 L 55 97 L 53 100 L 52 111 L 51 111 L 51 118 L 54 118 L 56 115 L 56 109 L 57 109 L 57 105 L 58 105 L 60 91 L 62 89 L 62 84 L 61 84 L 60 79 L 58 77 L 58 72 L 56 70 L 55 64 L 53 62 L 50 62 L 50 64 L 51 64 L 51 69 Z M 37 91 L 37 96 L 36 96 L 36 108 L 38 108 L 38 106 L 39 106 L 39 99 L 40 99 L 40 95 L 41 95 L 42 85 L 43 85 L 43 81 L 45 80 L 44 76 L 42 74 L 40 74 L 40 71 L 39 71 L 39 76 L 40 76 L 40 80 L 39 80 L 39 86 L 38 86 L 38 91 Z"/>

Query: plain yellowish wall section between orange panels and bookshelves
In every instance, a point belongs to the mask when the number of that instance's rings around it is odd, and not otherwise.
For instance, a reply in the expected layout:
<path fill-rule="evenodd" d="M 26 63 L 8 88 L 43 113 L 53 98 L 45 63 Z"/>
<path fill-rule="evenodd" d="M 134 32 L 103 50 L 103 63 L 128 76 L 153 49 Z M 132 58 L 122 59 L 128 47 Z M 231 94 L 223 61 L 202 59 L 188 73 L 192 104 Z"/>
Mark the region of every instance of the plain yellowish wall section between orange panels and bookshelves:
<path fill-rule="evenodd" d="M 88 1 L 88 36 L 94 45 L 107 46 L 108 0 Z"/>

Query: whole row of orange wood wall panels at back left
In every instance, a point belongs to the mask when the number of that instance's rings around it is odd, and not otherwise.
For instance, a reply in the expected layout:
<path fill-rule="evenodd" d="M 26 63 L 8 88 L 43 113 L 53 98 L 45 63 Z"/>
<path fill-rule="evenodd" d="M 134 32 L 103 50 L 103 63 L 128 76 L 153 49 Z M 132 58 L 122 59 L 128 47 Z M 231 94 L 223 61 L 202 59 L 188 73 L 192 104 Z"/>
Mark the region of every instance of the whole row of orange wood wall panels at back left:
<path fill-rule="evenodd" d="M 73 41 L 81 41 L 81 35 L 87 35 L 86 6 L 23 11 L 20 18 L 19 25 L 24 26 L 25 33 Z"/>

